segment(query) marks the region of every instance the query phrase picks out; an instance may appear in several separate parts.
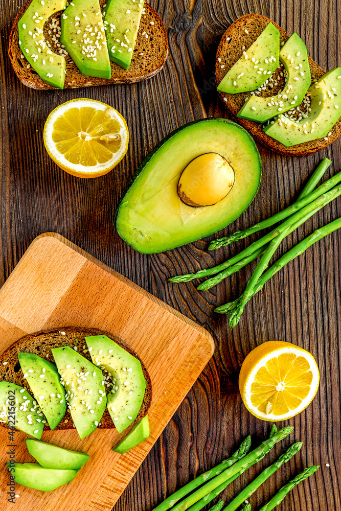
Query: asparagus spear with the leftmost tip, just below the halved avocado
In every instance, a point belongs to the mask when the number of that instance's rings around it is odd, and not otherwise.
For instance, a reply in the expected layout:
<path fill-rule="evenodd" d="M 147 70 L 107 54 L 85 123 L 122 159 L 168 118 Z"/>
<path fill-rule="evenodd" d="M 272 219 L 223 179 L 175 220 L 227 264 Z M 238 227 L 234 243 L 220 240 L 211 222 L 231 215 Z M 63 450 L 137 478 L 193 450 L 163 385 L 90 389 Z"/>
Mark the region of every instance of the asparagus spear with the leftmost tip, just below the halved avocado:
<path fill-rule="evenodd" d="M 341 173 L 340 173 L 340 175 L 341 175 Z M 247 248 L 245 248 L 244 250 L 242 250 L 238 254 L 234 255 L 233 258 L 228 259 L 228 261 L 225 261 L 224 263 L 221 263 L 218 266 L 214 266 L 213 268 L 207 268 L 207 269 L 204 269 L 204 270 L 199 270 L 196 273 L 189 273 L 187 275 L 177 275 L 175 277 L 169 278 L 168 279 L 169 282 L 187 282 L 187 281 L 192 281 L 194 278 L 201 278 L 201 277 L 206 277 L 206 276 L 209 276 L 209 275 L 214 275 L 216 273 L 219 273 L 221 270 L 225 270 L 226 268 L 229 268 L 233 264 L 238 263 L 238 261 L 241 261 L 244 257 L 247 257 L 249 254 L 255 252 L 255 250 L 258 250 L 260 247 L 264 246 L 266 243 L 269 243 L 272 239 L 274 239 L 276 236 L 278 236 L 278 234 L 281 233 L 287 227 L 288 224 L 291 225 L 291 224 L 297 222 L 301 217 L 305 216 L 308 211 L 314 210 L 314 208 L 317 207 L 317 205 L 327 204 L 327 202 L 329 202 L 330 200 L 332 200 L 333 198 L 335 198 L 337 196 L 337 192 L 340 191 L 340 190 L 341 190 L 340 187 L 339 188 L 334 188 L 332 190 L 329 190 L 325 194 L 321 195 L 320 197 L 318 197 L 314 201 L 312 201 L 309 204 L 307 204 L 305 207 L 303 207 L 297 213 L 292 215 L 290 218 L 287 218 L 276 229 L 272 230 L 270 233 L 268 233 L 267 235 L 263 236 L 263 238 L 261 238 L 260 240 L 255 241 L 254 243 L 249 245 Z M 315 193 L 315 192 L 313 192 L 313 193 Z M 322 207 L 322 205 L 321 205 L 321 207 Z"/>

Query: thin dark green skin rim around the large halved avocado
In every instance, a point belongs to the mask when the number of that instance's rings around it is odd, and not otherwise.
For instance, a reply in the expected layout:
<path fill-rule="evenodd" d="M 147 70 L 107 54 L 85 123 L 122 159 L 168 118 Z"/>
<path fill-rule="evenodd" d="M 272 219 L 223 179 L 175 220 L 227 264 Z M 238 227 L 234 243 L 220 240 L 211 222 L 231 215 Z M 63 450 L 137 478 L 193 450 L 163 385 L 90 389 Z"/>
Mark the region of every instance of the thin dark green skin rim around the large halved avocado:
<path fill-rule="evenodd" d="M 230 121 L 228 119 L 223 119 L 223 118 L 215 118 L 215 117 L 210 117 L 210 118 L 206 118 L 206 119 L 198 119 L 196 121 L 191 121 L 187 124 L 184 124 L 183 126 L 180 126 L 179 128 L 176 128 L 175 130 L 173 130 L 172 132 L 170 132 L 168 135 L 166 135 L 160 142 L 158 142 L 158 144 L 156 144 L 156 146 L 147 154 L 147 156 L 145 157 L 145 159 L 142 161 L 141 165 L 139 166 L 138 170 L 135 172 L 135 174 L 133 175 L 130 183 L 128 184 L 126 190 L 125 190 L 125 193 L 117 207 L 117 210 L 115 212 L 115 216 L 114 216 L 114 223 L 116 225 L 116 229 L 118 231 L 118 234 L 120 235 L 120 231 L 117 227 L 117 223 L 118 223 L 118 217 L 119 217 L 119 213 L 120 213 L 120 209 L 122 207 L 122 204 L 124 203 L 124 199 L 125 199 L 125 196 L 126 194 L 128 193 L 128 191 L 130 190 L 130 188 L 132 187 L 132 185 L 135 183 L 135 181 L 138 179 L 138 177 L 140 176 L 141 172 L 144 170 L 144 168 L 146 167 L 146 165 L 148 164 L 148 162 L 151 160 L 151 158 L 154 156 L 154 154 L 157 153 L 157 151 L 159 149 L 161 149 L 163 147 L 164 144 L 166 144 L 167 142 L 169 142 L 177 133 L 180 133 L 181 131 L 185 130 L 186 128 L 188 128 L 189 126 L 194 126 L 194 125 L 197 125 L 197 124 L 200 124 L 202 123 L 204 126 L 206 124 L 209 124 L 211 123 L 212 121 L 217 121 L 217 122 L 221 122 L 221 123 L 224 123 L 224 124 L 228 124 L 228 125 L 232 125 L 232 126 L 236 126 L 238 129 L 241 130 L 241 132 L 244 132 L 247 137 L 249 137 L 249 141 L 252 143 L 252 145 L 254 146 L 254 148 L 256 149 L 256 154 L 257 154 L 257 164 L 259 165 L 259 181 L 258 181 L 258 187 L 257 187 L 257 190 L 255 191 L 253 197 L 251 198 L 251 200 L 249 200 L 247 203 L 245 203 L 245 206 L 244 206 L 244 209 L 243 209 L 243 212 L 247 209 L 247 207 L 252 203 L 252 201 L 254 200 L 255 196 L 257 195 L 257 192 L 259 190 L 259 187 L 260 187 L 260 183 L 261 183 L 261 179 L 262 179 L 262 160 L 261 160 L 261 156 L 259 154 L 259 151 L 258 151 L 258 148 L 256 146 L 256 143 L 255 141 L 253 140 L 252 136 L 248 133 L 248 131 L 243 128 L 242 126 L 240 126 L 239 124 L 233 122 L 233 121 Z M 180 200 L 180 199 L 179 199 Z M 209 206 L 210 207 L 210 206 Z M 240 214 L 242 214 L 243 212 L 241 212 Z M 238 215 L 236 218 L 238 218 L 240 215 Z M 130 246 L 132 246 L 134 248 L 134 250 L 136 250 L 137 252 L 140 252 L 140 253 L 160 253 L 160 252 L 164 252 L 166 250 L 170 250 L 170 249 L 173 249 L 173 248 L 176 248 L 177 246 L 181 246 L 181 245 L 184 245 L 184 244 L 188 244 L 188 243 L 192 243 L 193 241 L 196 241 L 198 239 L 201 239 L 201 238 L 204 238 L 206 236 L 210 236 L 211 234 L 214 234 L 216 233 L 218 230 L 220 230 L 221 228 L 224 228 L 226 227 L 226 225 L 229 225 L 231 222 L 233 222 L 234 220 L 236 220 L 236 218 L 234 218 L 233 220 L 231 221 L 228 221 L 225 225 L 223 225 L 222 227 L 220 228 L 217 228 L 217 229 L 211 229 L 210 231 L 207 232 L 207 234 L 204 234 L 203 236 L 201 237 L 195 237 L 193 236 L 193 238 L 191 240 L 188 240 L 186 241 L 186 243 L 182 243 L 182 244 L 179 244 L 179 245 L 175 245 L 175 246 L 169 246 L 167 248 L 163 248 L 161 250 L 155 250 L 155 251 L 152 251 L 152 252 L 146 252 L 146 251 L 143 251 L 143 250 L 140 250 L 139 248 L 131 245 L 130 243 L 128 243 L 124 237 L 122 237 L 122 239 L 124 239 L 124 241 L 126 241 L 126 243 Z"/>

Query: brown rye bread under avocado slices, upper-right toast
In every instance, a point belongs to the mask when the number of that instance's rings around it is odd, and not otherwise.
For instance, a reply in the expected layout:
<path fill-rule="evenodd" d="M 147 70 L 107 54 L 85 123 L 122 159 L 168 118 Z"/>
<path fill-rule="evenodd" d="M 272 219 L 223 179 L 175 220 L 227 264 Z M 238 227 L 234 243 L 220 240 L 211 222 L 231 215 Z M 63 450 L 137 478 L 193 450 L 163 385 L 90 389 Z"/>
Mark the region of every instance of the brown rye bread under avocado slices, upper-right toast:
<path fill-rule="evenodd" d="M 226 30 L 221 38 L 217 50 L 215 64 L 217 83 L 221 82 L 229 69 L 242 56 L 244 51 L 243 47 L 247 50 L 247 48 L 255 42 L 257 37 L 263 32 L 270 22 L 274 24 L 280 32 L 280 43 L 282 44 L 282 42 L 287 41 L 289 39 L 288 34 L 284 32 L 284 30 L 281 29 L 275 21 L 258 14 L 246 14 L 245 16 L 238 18 L 228 28 L 228 30 Z M 323 71 L 323 69 L 321 69 L 321 67 L 310 57 L 308 57 L 308 59 L 311 72 L 311 83 L 313 83 L 315 80 L 318 80 L 322 75 L 324 75 L 325 71 Z M 270 97 L 278 94 L 279 91 L 282 90 L 285 84 L 284 77 L 281 77 L 279 72 L 277 72 L 277 74 L 275 72 L 273 76 L 277 79 L 276 81 L 278 84 L 274 85 L 272 89 L 266 88 L 265 91 L 261 91 L 259 96 Z M 225 94 L 224 92 L 219 92 L 219 97 L 233 114 L 233 120 L 241 124 L 254 138 L 256 138 L 258 142 L 272 151 L 276 151 L 277 153 L 284 155 L 305 156 L 316 151 L 321 151 L 321 149 L 324 149 L 334 142 L 334 140 L 341 134 L 341 120 L 339 120 L 331 129 L 331 134 L 328 136 L 328 140 L 324 140 L 324 138 L 317 138 L 317 140 L 298 144 L 297 146 L 285 147 L 283 144 L 277 142 L 277 140 L 264 133 L 262 131 L 262 124 L 254 121 L 247 121 L 246 119 L 236 118 L 237 113 L 245 102 L 245 98 L 248 98 L 249 96 L 251 96 L 250 92 L 241 92 L 240 94 Z"/>

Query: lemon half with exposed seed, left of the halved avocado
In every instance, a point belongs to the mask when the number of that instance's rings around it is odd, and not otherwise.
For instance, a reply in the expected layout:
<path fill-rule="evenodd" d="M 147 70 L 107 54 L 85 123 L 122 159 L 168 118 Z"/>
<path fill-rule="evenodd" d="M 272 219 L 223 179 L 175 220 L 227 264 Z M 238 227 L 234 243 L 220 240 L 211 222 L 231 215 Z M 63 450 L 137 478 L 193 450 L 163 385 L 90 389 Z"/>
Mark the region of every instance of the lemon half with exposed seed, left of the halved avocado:
<path fill-rule="evenodd" d="M 98 177 L 126 154 L 129 132 L 115 108 L 92 99 L 74 99 L 50 113 L 43 140 L 61 169 L 77 177 Z"/>

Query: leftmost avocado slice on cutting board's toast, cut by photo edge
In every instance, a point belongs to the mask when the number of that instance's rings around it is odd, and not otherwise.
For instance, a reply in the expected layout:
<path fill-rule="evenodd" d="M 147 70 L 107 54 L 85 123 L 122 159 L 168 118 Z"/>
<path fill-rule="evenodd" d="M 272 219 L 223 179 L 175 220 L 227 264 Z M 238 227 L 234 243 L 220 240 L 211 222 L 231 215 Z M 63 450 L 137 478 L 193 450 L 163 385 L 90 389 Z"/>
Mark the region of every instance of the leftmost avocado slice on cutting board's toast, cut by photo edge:
<path fill-rule="evenodd" d="M 13 424 L 11 414 L 14 412 Z M 10 382 L 0 382 L 0 421 L 38 439 L 46 423 L 44 414 L 28 391 Z"/>

